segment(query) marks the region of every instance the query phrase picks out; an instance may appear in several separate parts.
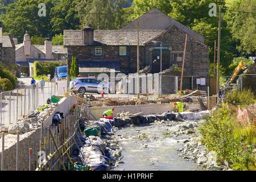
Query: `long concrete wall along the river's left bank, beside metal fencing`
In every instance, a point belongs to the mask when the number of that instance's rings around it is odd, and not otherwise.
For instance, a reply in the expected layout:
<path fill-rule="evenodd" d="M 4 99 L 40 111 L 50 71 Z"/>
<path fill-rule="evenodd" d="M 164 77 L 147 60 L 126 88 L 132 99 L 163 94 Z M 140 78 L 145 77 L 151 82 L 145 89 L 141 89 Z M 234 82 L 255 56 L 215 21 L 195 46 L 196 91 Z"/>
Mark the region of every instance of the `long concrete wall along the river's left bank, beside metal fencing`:
<path fill-rule="evenodd" d="M 69 113 L 70 108 L 76 103 L 75 97 L 63 98 L 54 112 L 43 123 L 43 137 L 46 136 L 46 129 L 52 123 L 52 117 L 56 111 Z M 36 130 L 20 135 L 19 139 L 19 171 L 28 170 L 29 148 L 32 148 L 32 169 L 36 167 L 37 152 L 40 151 L 41 127 Z M 2 139 L 0 139 L 2 141 Z M 16 169 L 16 135 L 8 134 L 5 136 L 5 171 Z M 0 143 L 0 163 L 2 160 L 2 142 Z M 2 167 L 1 167 L 2 168 Z"/>

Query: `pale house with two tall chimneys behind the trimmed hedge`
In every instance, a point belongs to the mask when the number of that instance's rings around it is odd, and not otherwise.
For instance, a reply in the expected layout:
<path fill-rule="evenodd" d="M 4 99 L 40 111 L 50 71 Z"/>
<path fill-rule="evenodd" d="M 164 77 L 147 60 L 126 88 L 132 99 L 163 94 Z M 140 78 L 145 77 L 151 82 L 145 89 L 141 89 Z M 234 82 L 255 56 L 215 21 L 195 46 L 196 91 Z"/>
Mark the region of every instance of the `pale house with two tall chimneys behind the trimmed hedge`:
<path fill-rule="evenodd" d="M 67 48 L 53 46 L 51 40 L 47 39 L 44 45 L 32 45 L 28 32 L 24 35 L 23 43 L 16 44 L 15 47 L 15 61 L 19 73 L 25 73 L 27 76 L 34 75 L 34 61 L 65 61 L 67 57 Z"/>

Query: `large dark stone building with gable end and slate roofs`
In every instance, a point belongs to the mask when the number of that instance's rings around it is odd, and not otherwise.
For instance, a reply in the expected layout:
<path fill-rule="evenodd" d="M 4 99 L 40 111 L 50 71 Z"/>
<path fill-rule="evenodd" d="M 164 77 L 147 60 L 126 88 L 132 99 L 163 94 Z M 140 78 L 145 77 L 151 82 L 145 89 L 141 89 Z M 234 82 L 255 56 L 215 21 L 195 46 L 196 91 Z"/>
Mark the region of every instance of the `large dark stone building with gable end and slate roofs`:
<path fill-rule="evenodd" d="M 169 16 L 153 9 L 121 30 L 64 30 L 64 46 L 68 49 L 68 62 L 75 56 L 80 74 L 97 76 L 100 72 L 137 72 L 137 30 L 139 22 L 140 69 L 150 66 L 150 73 L 160 72 L 160 44 L 162 42 L 162 70 L 183 61 L 185 35 L 188 35 L 184 72 L 184 89 L 207 90 L 209 84 L 208 46 L 204 37 Z M 111 64 L 108 64 L 111 63 Z M 98 69 L 101 68 L 101 69 Z M 180 76 L 180 73 L 170 73 Z M 205 82 L 196 85 L 197 78 Z"/>

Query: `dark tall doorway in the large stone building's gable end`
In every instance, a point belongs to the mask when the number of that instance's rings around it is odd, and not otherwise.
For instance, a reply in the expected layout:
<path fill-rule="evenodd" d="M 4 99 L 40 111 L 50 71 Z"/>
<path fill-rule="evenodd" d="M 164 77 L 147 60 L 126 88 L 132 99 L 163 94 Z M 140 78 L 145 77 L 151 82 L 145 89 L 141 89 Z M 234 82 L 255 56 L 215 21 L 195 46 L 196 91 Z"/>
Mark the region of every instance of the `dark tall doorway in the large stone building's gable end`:
<path fill-rule="evenodd" d="M 170 68 L 170 51 L 162 50 L 162 71 Z M 154 49 L 152 51 L 152 73 L 160 72 L 160 50 Z"/>

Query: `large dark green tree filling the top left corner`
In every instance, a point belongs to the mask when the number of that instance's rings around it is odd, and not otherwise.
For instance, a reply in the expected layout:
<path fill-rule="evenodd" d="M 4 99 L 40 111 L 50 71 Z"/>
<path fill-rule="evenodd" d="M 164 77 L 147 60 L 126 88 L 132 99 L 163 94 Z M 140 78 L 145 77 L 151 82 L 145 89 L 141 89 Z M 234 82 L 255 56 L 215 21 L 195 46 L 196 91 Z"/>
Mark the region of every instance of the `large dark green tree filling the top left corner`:
<path fill-rule="evenodd" d="M 11 3 L 6 7 L 6 14 L 1 18 L 4 30 L 9 32 L 21 42 L 24 33 L 31 36 L 51 37 L 51 24 L 49 12 L 53 7 L 52 0 L 45 0 L 46 17 L 38 16 L 38 0 L 22 0 Z"/>

